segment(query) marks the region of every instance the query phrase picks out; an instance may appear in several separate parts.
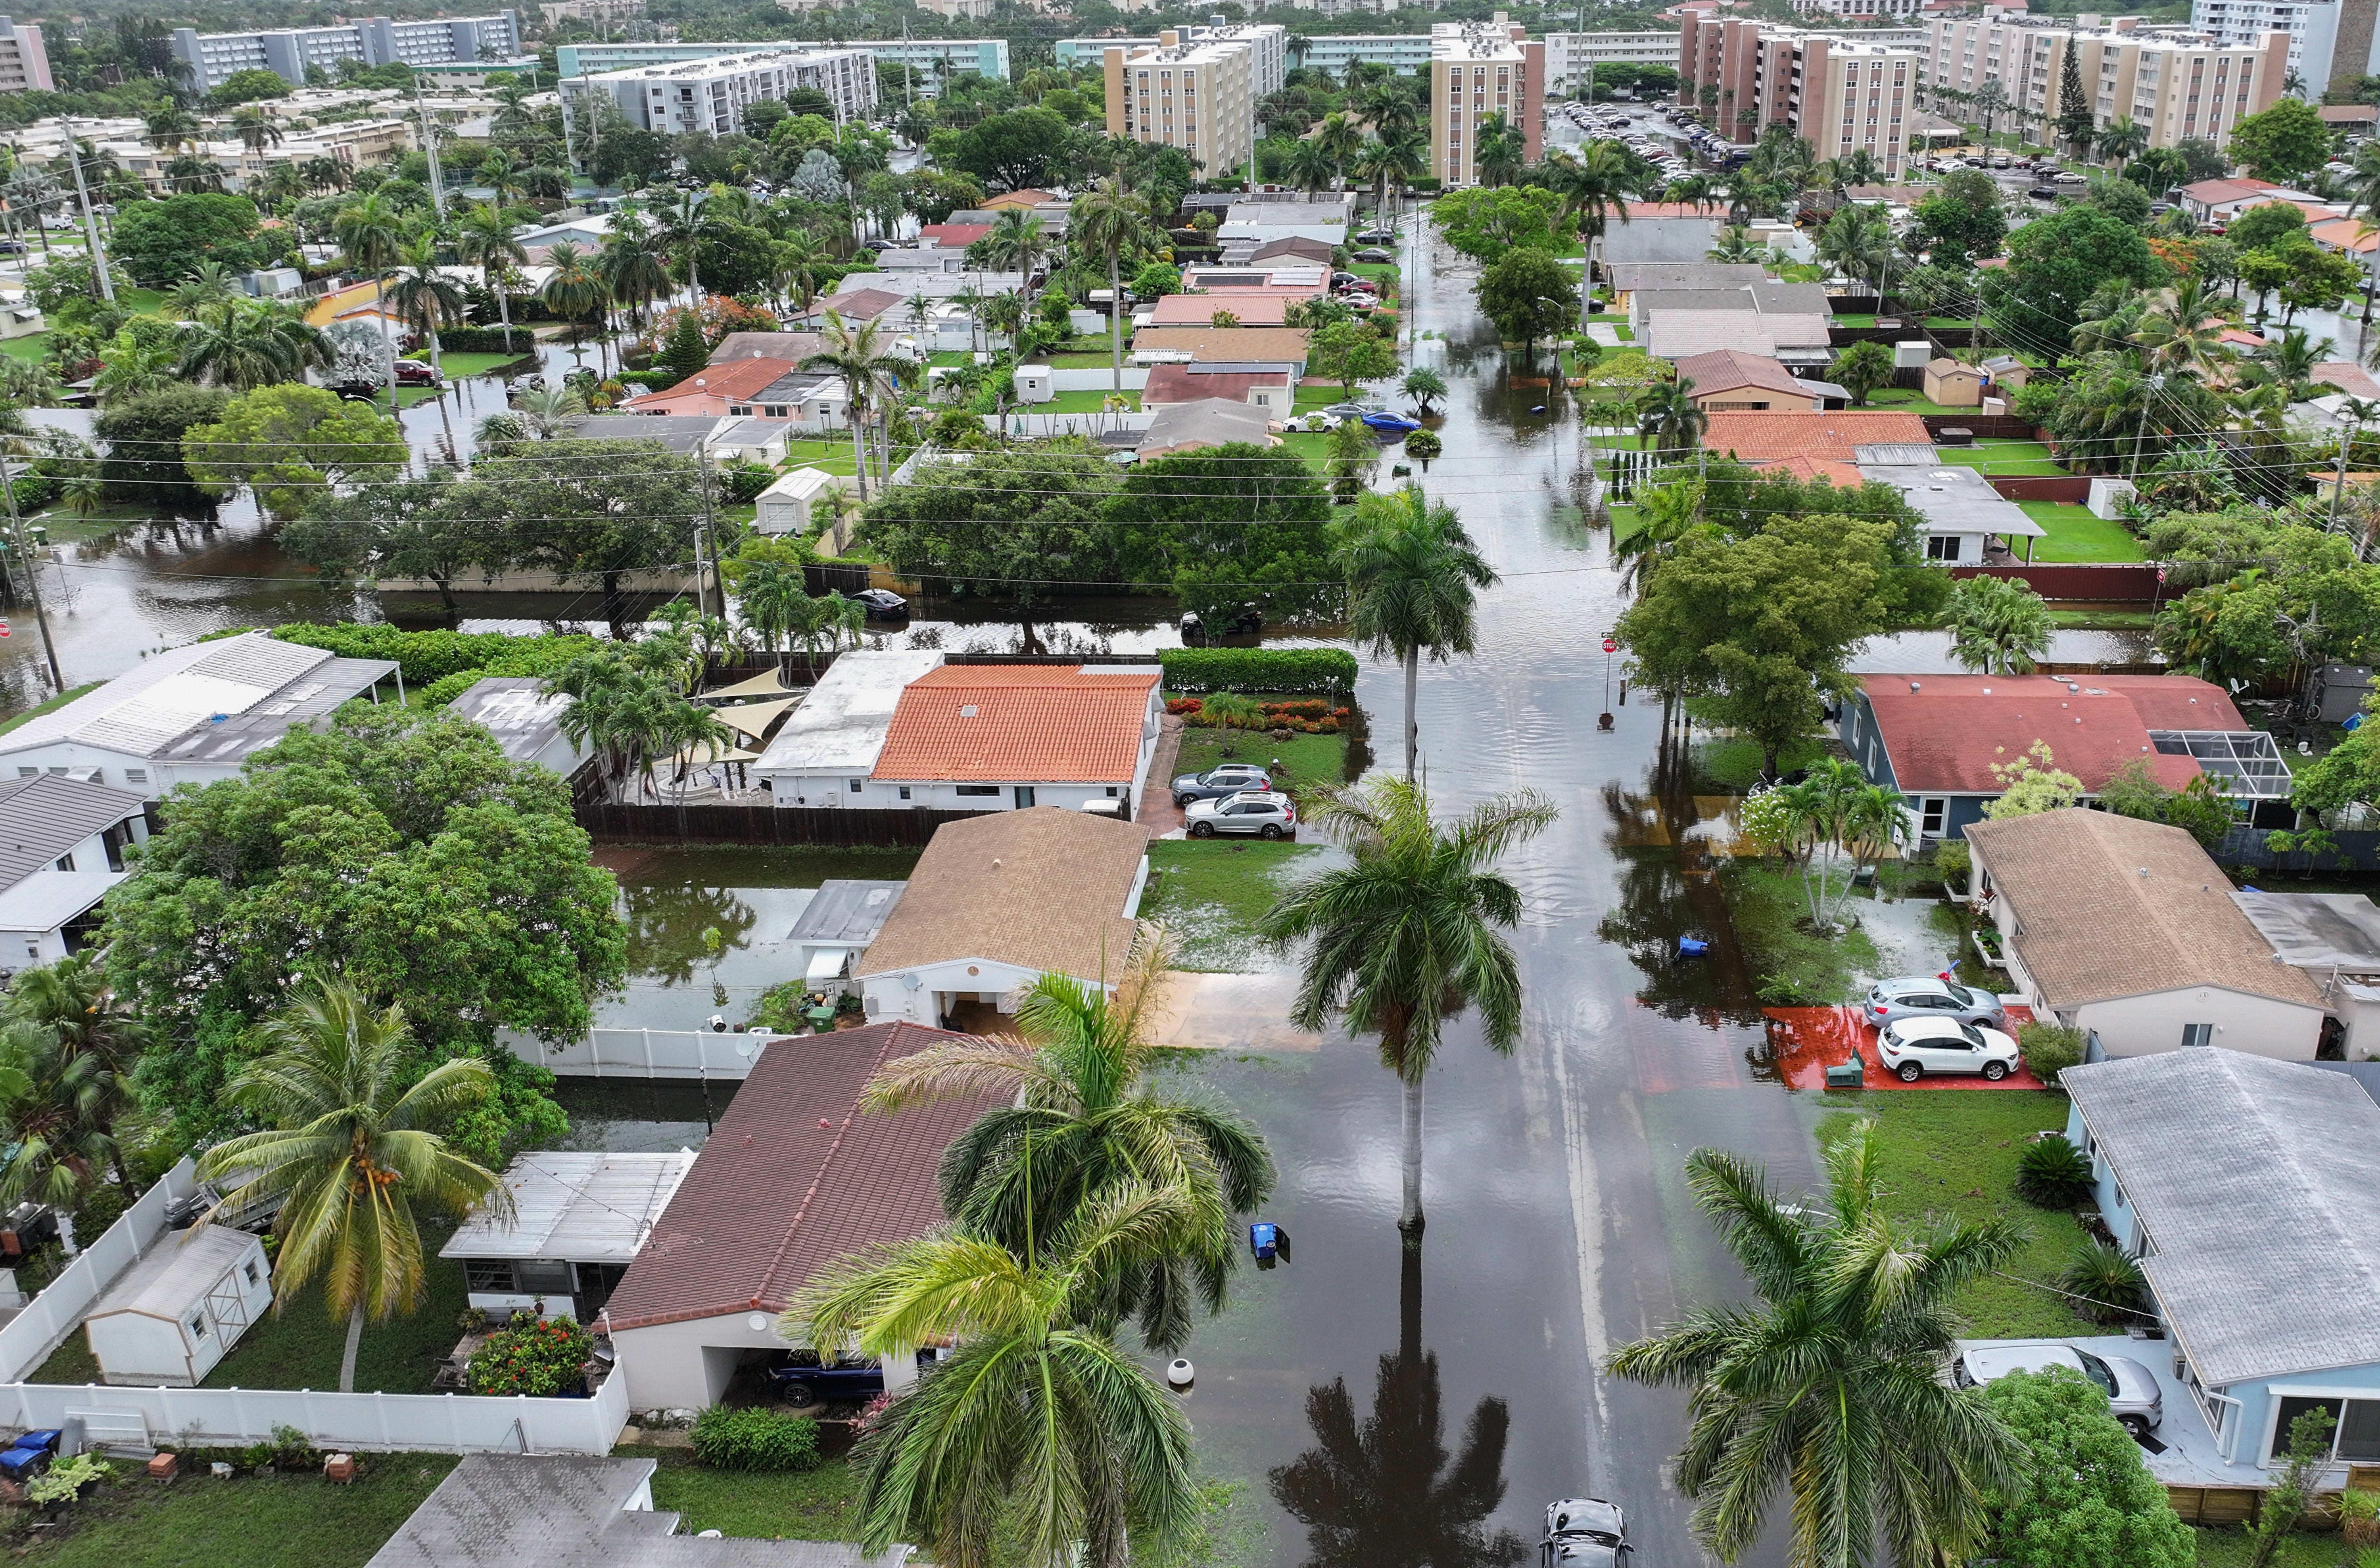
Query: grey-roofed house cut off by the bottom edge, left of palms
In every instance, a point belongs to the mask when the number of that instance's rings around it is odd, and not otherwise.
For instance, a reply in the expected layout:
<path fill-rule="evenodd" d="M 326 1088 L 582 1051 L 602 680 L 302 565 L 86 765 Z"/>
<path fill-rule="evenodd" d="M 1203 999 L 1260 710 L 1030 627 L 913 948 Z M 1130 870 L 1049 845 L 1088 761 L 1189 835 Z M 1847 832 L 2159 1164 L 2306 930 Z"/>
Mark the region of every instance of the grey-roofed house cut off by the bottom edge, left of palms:
<path fill-rule="evenodd" d="M 681 1535 L 652 1506 L 652 1459 L 466 1454 L 367 1568 L 902 1568 L 912 1547 Z"/>

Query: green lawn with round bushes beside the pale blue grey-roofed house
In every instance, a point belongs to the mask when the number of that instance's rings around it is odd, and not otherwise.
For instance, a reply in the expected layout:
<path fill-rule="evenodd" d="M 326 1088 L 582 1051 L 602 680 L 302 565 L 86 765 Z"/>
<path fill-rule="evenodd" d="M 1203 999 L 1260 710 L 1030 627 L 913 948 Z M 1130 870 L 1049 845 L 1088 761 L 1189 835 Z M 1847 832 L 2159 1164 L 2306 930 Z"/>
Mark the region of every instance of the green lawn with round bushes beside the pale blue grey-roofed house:
<path fill-rule="evenodd" d="M 2106 1332 L 2090 1328 L 2047 1290 L 2082 1244 L 2071 1213 L 2035 1209 L 2016 1197 L 2016 1161 L 2025 1135 L 2066 1125 L 2066 1097 L 2049 1090 L 1864 1092 L 1844 1097 L 1856 1109 L 1825 1116 L 1818 1142 L 1833 1144 L 1866 1116 L 1883 1147 L 1885 1211 L 1902 1221 L 1954 1213 L 1966 1221 L 2013 1216 L 2030 1240 L 1997 1275 L 1959 1297 L 1971 1335 L 2016 1340 L 2035 1335 Z M 2013 1278 L 2009 1278 L 2013 1275 Z"/>

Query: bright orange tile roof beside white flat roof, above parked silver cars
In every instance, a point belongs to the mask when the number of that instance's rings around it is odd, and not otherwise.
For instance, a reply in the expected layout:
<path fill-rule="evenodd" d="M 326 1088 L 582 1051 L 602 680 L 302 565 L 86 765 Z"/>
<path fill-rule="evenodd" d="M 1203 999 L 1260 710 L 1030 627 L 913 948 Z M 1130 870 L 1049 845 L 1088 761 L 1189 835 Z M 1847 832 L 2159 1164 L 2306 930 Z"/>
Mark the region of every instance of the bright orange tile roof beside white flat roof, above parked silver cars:
<path fill-rule="evenodd" d="M 873 778 L 1130 783 L 1157 678 L 945 664 L 902 688 Z"/>

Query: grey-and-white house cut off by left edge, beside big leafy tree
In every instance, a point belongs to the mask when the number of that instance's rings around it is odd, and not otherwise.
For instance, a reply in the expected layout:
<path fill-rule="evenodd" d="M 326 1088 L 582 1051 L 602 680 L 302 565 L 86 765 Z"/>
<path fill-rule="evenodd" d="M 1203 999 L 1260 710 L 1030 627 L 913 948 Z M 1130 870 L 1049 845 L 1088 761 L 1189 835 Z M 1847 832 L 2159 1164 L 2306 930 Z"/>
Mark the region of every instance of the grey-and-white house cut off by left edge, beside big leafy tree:
<path fill-rule="evenodd" d="M 0 780 L 0 973 L 81 952 L 124 847 L 148 840 L 148 797 L 90 778 Z"/>

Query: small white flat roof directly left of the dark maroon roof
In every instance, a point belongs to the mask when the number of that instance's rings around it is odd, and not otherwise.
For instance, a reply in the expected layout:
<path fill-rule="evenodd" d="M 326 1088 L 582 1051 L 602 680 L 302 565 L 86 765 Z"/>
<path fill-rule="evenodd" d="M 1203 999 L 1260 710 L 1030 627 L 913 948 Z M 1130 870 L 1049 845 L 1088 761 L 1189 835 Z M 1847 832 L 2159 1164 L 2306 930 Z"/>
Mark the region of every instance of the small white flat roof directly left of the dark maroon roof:
<path fill-rule="evenodd" d="M 552 1263 L 631 1263 L 695 1166 L 676 1154 L 524 1154 L 505 1166 L 512 1223 L 486 1206 L 455 1228 L 443 1259 L 545 1259 Z"/>

